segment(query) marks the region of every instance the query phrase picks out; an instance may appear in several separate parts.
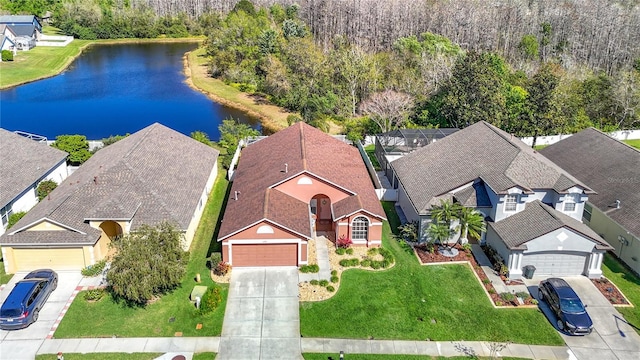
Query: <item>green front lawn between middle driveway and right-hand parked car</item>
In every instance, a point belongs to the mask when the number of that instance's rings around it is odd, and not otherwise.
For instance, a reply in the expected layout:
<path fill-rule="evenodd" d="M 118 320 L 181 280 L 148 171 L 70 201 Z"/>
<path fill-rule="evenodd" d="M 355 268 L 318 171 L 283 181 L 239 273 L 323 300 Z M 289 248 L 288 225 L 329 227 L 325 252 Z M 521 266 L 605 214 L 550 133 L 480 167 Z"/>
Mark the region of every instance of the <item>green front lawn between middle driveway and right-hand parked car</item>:
<path fill-rule="evenodd" d="M 384 207 L 395 228 L 393 203 Z M 333 298 L 302 303 L 302 336 L 564 344 L 538 309 L 495 309 L 469 266 L 421 266 L 392 239 L 386 222 L 383 246 L 396 266 L 378 273 L 348 270 Z"/>

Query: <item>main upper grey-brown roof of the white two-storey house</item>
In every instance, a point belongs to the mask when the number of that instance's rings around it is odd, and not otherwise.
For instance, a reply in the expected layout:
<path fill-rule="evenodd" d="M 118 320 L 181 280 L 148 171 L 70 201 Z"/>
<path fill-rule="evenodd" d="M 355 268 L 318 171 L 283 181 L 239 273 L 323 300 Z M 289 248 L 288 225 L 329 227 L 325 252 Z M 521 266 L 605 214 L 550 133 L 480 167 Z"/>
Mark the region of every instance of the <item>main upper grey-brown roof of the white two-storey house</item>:
<path fill-rule="evenodd" d="M 520 187 L 564 193 L 574 185 L 592 190 L 518 138 L 484 121 L 457 131 L 391 163 L 418 213 L 433 199 L 482 179 L 496 193 Z"/>

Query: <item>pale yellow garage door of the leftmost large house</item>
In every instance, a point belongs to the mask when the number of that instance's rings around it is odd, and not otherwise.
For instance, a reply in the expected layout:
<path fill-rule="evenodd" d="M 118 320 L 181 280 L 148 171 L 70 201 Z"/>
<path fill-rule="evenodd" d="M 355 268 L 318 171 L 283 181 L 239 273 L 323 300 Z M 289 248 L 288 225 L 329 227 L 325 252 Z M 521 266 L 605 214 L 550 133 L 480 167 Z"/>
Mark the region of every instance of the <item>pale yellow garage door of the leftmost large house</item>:
<path fill-rule="evenodd" d="M 13 259 L 18 270 L 23 271 L 41 268 L 80 270 L 85 267 L 82 248 L 14 249 Z"/>

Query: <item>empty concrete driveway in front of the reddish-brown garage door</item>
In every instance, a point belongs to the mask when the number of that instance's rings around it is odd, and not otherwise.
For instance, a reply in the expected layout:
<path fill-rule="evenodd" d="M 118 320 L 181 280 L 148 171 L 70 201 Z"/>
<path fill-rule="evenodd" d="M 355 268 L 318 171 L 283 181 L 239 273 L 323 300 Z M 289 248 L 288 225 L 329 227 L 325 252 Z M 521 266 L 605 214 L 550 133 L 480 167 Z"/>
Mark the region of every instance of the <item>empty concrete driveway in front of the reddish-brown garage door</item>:
<path fill-rule="evenodd" d="M 235 268 L 217 360 L 302 359 L 298 269 Z"/>

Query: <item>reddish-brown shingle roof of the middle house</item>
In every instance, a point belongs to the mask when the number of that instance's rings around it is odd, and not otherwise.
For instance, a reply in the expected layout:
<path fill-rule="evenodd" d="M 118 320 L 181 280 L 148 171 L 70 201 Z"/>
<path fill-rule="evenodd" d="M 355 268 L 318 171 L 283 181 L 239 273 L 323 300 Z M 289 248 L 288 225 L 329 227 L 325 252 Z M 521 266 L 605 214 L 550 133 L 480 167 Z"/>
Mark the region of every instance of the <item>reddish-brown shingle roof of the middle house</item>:
<path fill-rule="evenodd" d="M 272 188 L 303 173 L 353 194 L 332 204 L 335 219 L 361 209 L 386 218 L 358 149 L 296 123 L 242 150 L 219 241 L 262 219 L 310 237 L 309 204 Z"/>

